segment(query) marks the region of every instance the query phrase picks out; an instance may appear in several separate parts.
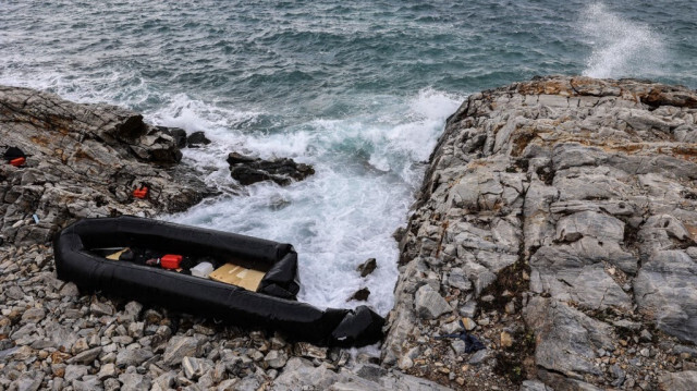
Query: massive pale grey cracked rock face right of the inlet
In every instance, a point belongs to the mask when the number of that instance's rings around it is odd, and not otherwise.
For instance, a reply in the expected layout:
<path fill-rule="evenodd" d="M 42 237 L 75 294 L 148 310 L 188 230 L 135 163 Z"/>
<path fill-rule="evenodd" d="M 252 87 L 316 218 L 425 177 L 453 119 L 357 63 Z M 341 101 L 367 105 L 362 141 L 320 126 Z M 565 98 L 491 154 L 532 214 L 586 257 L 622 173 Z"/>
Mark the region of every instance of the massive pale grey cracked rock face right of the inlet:
<path fill-rule="evenodd" d="M 476 334 L 534 334 L 527 377 L 554 389 L 658 387 L 681 367 L 645 379 L 637 365 L 697 343 L 696 142 L 697 94 L 684 87 L 554 76 L 470 96 L 448 120 L 401 237 L 384 364 L 419 372 L 411 366 L 428 357 L 414 346 L 439 349 L 424 335 L 479 305 Z M 427 284 L 456 309 L 419 319 Z M 468 378 L 451 354 L 439 359 Z"/>

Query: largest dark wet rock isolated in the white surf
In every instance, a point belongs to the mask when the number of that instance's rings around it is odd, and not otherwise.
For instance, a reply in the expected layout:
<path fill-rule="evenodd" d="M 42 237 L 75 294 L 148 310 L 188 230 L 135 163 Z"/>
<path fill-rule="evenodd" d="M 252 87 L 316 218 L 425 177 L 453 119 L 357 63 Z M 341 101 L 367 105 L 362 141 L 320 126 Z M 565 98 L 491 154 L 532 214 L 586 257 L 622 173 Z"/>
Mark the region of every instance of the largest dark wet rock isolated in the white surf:
<path fill-rule="evenodd" d="M 242 185 L 250 185 L 262 181 L 272 181 L 281 186 L 292 181 L 302 181 L 315 173 L 315 169 L 305 163 L 296 163 L 293 159 L 282 158 L 264 160 L 231 152 L 228 156 L 230 174 Z"/>

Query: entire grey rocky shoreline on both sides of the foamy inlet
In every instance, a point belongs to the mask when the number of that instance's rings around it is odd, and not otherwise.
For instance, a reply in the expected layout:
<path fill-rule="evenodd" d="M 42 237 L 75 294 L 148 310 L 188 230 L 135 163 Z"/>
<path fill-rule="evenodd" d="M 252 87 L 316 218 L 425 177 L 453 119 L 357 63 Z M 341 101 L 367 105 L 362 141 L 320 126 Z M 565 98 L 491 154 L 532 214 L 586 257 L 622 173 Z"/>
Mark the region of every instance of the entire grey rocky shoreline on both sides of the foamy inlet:
<path fill-rule="evenodd" d="M 380 359 L 56 278 L 50 237 L 75 219 L 156 216 L 216 194 L 179 164 L 185 136 L 121 108 L 0 87 L 0 144 L 29 155 L 0 164 L 0 391 L 697 388 L 693 90 L 553 76 L 470 96 L 395 234 Z M 230 159 L 250 183 L 314 172 Z M 142 183 L 150 194 L 134 198 Z M 439 338 L 462 331 L 486 349 Z"/>

